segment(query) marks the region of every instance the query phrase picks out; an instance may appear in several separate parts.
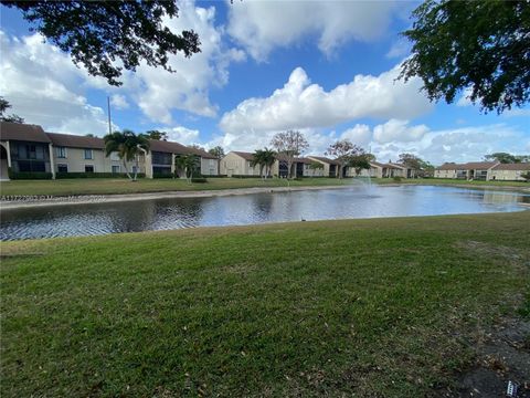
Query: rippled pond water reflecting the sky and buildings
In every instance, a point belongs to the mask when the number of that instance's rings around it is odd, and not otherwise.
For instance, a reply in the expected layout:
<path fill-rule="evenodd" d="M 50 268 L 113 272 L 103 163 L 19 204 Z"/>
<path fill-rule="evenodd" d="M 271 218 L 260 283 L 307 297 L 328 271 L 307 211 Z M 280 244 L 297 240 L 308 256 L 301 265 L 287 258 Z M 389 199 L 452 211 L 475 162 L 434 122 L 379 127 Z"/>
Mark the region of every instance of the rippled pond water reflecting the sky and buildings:
<path fill-rule="evenodd" d="M 435 186 L 322 189 L 1 211 L 0 240 L 264 222 L 522 210 L 530 195 Z"/>

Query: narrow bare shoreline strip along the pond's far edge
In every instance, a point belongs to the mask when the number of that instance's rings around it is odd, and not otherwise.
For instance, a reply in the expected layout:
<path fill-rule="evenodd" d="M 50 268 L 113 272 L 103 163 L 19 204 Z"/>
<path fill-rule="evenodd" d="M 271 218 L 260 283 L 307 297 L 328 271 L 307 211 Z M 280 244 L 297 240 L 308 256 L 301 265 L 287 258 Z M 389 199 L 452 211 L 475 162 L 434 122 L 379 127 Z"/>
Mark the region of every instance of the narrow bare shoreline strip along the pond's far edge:
<path fill-rule="evenodd" d="M 488 189 L 504 191 L 519 191 L 530 193 L 530 187 L 510 187 L 510 186 L 476 186 L 469 184 L 374 184 L 374 187 L 400 187 L 400 186 L 432 186 L 432 187 L 452 187 L 465 189 Z M 340 186 L 306 186 L 306 187 L 252 187 L 252 188 L 229 188 L 229 189 L 211 189 L 211 190 L 189 190 L 189 191 L 160 191 L 160 192 L 137 192 L 137 193 L 114 193 L 114 195 L 78 195 L 78 196 L 50 196 L 41 200 L 2 200 L 0 202 L 0 211 L 30 209 L 40 207 L 56 206 L 75 206 L 75 205 L 94 205 L 94 203 L 117 203 L 141 200 L 156 199 L 186 199 L 186 198 L 209 198 L 209 197 L 226 197 L 253 193 L 274 193 L 304 190 L 325 190 L 325 189 L 350 189 L 353 187 L 362 187 L 360 185 L 340 185 Z M 45 197 L 45 196 L 44 196 Z M 31 198 L 31 197 L 29 197 Z"/>

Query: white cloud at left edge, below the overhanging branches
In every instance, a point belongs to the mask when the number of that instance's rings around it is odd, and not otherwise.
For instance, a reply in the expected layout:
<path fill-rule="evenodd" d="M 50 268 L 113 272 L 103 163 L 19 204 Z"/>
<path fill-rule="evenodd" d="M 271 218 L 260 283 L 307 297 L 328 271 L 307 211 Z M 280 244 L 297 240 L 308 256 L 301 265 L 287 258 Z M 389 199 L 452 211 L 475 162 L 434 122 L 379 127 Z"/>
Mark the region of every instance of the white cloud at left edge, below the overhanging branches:
<path fill-rule="evenodd" d="M 105 112 L 88 104 L 86 72 L 67 54 L 33 34 L 22 39 L 0 31 L 0 92 L 13 113 L 51 132 L 104 135 Z"/>

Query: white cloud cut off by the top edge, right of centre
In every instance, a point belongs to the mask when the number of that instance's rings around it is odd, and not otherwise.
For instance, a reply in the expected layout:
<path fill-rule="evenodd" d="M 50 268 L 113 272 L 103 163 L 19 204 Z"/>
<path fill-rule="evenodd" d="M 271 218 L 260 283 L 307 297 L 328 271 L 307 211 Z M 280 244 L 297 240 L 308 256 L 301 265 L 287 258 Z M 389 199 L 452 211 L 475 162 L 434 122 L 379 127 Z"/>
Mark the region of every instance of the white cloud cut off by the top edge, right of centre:
<path fill-rule="evenodd" d="M 234 1 L 227 31 L 258 61 L 315 35 L 329 56 L 351 40 L 381 38 L 398 8 L 394 1 Z"/>

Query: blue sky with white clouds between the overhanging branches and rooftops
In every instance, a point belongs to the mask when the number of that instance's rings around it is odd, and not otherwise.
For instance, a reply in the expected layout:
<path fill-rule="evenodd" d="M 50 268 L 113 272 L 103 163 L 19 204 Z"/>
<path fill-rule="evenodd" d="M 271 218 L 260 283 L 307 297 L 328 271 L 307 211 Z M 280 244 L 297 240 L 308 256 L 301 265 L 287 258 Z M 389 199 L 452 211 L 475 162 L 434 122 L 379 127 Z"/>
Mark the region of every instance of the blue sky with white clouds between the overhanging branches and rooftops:
<path fill-rule="evenodd" d="M 338 139 L 380 161 L 411 153 L 441 165 L 484 155 L 530 153 L 530 106 L 485 114 L 460 93 L 431 103 L 412 78 L 396 80 L 411 44 L 417 2 L 179 1 L 166 24 L 193 29 L 201 53 L 172 55 L 176 73 L 141 64 L 120 87 L 76 67 L 67 53 L 0 6 L 0 96 L 12 113 L 46 132 L 167 132 L 171 140 L 225 151 L 271 146 L 274 134 L 300 130 L 305 155 Z"/>

